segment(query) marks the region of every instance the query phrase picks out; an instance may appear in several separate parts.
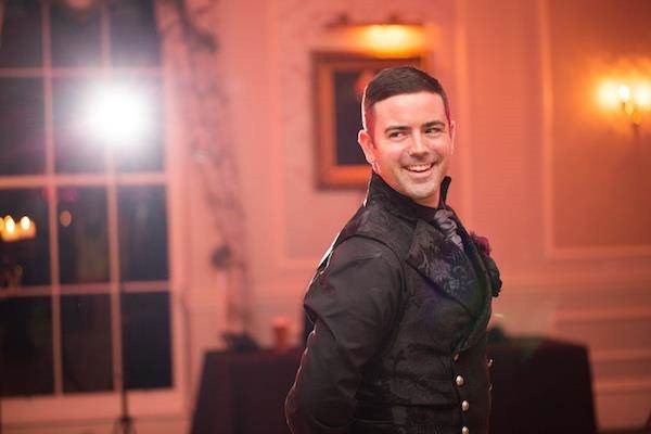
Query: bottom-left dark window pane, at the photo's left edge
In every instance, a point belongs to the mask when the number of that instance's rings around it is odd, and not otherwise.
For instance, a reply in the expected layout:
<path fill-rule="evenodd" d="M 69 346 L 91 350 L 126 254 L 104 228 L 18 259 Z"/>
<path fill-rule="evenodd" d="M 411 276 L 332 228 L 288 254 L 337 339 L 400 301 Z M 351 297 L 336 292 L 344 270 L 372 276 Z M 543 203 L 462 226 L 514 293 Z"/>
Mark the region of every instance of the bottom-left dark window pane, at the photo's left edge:
<path fill-rule="evenodd" d="M 50 297 L 0 298 L 0 394 L 54 391 Z"/>

